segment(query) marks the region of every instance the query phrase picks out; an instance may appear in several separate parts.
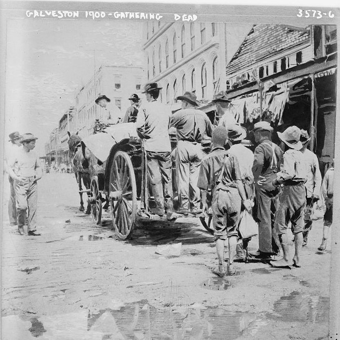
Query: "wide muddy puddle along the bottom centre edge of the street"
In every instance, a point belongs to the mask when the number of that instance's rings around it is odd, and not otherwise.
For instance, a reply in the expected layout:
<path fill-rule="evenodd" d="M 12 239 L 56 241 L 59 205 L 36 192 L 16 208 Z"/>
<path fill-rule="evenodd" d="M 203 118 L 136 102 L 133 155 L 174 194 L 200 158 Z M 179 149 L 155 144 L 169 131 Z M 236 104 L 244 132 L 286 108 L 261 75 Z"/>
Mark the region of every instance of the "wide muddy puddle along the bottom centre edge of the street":
<path fill-rule="evenodd" d="M 148 302 L 127 304 L 119 310 L 89 313 L 88 331 L 102 339 L 236 339 L 256 320 L 255 314 L 222 308 L 170 307 L 156 309 Z"/>

